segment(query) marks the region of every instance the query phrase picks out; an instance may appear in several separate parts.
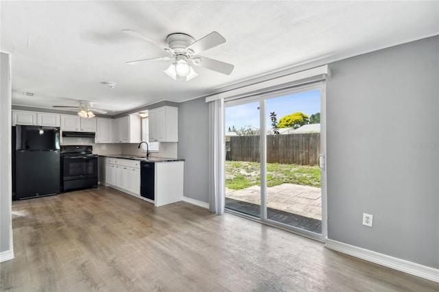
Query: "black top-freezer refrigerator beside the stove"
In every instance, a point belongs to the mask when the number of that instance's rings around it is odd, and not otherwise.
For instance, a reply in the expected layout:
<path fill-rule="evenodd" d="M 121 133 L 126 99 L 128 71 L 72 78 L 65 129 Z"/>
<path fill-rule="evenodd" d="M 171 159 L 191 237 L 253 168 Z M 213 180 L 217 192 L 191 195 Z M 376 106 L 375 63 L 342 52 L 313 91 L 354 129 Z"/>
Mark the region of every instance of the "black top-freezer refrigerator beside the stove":
<path fill-rule="evenodd" d="M 16 125 L 13 130 L 15 199 L 60 193 L 60 129 Z"/>

